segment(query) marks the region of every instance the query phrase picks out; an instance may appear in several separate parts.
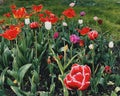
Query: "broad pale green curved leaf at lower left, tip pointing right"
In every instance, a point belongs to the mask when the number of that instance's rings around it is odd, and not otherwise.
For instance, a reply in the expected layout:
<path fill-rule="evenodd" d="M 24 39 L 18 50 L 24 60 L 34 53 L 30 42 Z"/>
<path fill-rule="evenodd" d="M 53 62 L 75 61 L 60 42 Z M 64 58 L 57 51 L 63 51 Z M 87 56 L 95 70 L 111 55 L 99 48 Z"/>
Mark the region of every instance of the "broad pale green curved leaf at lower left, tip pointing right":
<path fill-rule="evenodd" d="M 28 69 L 31 67 L 32 64 L 26 64 L 23 65 L 19 70 L 18 70 L 18 80 L 21 83 L 23 81 L 23 78 L 25 76 L 25 73 L 28 71 Z"/>

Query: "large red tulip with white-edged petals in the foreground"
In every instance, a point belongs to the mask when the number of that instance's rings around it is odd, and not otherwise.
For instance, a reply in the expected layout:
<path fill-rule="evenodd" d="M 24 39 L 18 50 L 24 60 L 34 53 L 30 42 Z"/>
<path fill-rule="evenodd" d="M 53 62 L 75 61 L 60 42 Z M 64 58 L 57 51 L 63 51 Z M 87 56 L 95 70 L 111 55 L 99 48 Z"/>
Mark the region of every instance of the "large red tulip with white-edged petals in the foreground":
<path fill-rule="evenodd" d="M 73 64 L 71 71 L 64 79 L 69 90 L 85 90 L 90 85 L 91 69 L 87 65 Z"/>

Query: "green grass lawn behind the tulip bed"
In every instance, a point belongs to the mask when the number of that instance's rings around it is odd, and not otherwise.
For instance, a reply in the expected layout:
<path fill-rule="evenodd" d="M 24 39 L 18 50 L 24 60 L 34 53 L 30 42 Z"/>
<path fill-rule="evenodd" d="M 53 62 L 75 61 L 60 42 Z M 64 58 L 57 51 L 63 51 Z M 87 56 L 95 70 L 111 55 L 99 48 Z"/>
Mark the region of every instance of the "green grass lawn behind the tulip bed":
<path fill-rule="evenodd" d="M 31 8 L 33 4 L 43 4 L 44 9 L 49 9 L 58 16 L 62 11 L 68 8 L 69 3 L 73 0 L 5 0 L 0 6 L 0 14 L 10 11 L 9 6 L 16 4 L 18 7 Z M 93 19 L 98 16 L 103 19 L 102 30 L 109 32 L 109 36 L 113 37 L 114 41 L 120 41 L 120 0 L 76 0 L 77 4 L 74 7 L 79 14 L 80 11 L 87 13 L 85 19 Z M 0 18 L 3 18 L 2 16 Z M 78 16 L 78 18 L 80 18 Z M 78 19 L 77 18 L 77 19 Z M 93 22 L 91 22 L 93 23 Z M 90 24 L 91 24 L 90 23 Z"/>

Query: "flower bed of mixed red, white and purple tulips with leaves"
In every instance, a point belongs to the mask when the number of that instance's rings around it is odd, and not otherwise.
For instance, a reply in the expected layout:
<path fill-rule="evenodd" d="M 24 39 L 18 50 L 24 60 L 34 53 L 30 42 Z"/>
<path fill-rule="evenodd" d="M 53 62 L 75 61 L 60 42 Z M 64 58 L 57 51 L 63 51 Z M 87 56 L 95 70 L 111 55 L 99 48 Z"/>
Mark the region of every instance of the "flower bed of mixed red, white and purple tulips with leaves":
<path fill-rule="evenodd" d="M 84 23 L 84 11 L 76 21 L 74 5 L 60 17 L 41 4 L 33 5 L 29 12 L 12 5 L 11 12 L 4 14 L 6 20 L 0 21 L 0 94 L 104 94 L 108 83 L 114 81 L 114 42 L 96 29 L 103 23 L 97 16 L 93 18 L 95 28 Z"/>

